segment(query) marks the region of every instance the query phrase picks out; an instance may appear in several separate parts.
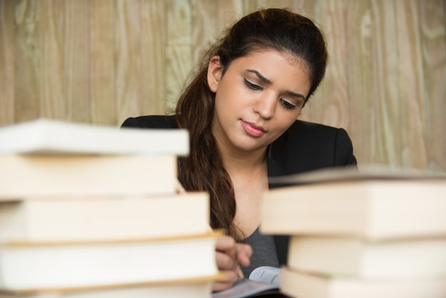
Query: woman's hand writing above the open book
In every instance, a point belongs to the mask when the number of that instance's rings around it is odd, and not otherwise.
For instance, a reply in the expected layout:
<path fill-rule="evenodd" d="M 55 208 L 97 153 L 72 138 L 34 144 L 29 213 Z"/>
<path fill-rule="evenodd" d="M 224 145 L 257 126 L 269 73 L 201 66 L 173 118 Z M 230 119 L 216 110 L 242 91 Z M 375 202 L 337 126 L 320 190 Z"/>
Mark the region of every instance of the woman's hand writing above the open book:
<path fill-rule="evenodd" d="M 225 279 L 214 282 L 213 292 L 232 287 L 242 273 L 239 265 L 249 266 L 249 258 L 252 255 L 250 245 L 236 243 L 234 238 L 229 236 L 219 237 L 215 249 L 217 267 L 224 273 Z"/>

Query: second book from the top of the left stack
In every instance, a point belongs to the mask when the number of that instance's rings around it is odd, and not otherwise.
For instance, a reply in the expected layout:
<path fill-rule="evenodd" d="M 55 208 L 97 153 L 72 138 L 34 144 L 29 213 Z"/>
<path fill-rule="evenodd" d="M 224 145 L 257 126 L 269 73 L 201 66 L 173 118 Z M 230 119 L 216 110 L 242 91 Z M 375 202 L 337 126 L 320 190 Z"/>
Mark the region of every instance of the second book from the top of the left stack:
<path fill-rule="evenodd" d="M 169 195 L 178 183 L 175 155 L 15 154 L 0 155 L 0 165 L 0 201 L 48 195 Z"/>

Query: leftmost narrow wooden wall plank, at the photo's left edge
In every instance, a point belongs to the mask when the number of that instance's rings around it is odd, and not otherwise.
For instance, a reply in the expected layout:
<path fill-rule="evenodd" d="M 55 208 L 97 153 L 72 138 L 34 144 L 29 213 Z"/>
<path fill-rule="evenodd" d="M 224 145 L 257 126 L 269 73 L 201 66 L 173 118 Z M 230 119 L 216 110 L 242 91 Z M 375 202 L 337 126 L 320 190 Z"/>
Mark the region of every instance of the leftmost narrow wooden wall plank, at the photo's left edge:
<path fill-rule="evenodd" d="M 14 1 L 0 1 L 0 125 L 14 123 Z"/>

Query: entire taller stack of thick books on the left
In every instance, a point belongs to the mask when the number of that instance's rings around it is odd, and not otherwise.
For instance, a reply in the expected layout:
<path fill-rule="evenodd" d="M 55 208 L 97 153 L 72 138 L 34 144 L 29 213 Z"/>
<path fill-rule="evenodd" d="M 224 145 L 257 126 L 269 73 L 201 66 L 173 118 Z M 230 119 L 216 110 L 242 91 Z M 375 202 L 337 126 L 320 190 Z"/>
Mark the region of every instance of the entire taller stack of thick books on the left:
<path fill-rule="evenodd" d="M 209 195 L 186 130 L 38 119 L 0 128 L 0 297 L 211 297 Z"/>

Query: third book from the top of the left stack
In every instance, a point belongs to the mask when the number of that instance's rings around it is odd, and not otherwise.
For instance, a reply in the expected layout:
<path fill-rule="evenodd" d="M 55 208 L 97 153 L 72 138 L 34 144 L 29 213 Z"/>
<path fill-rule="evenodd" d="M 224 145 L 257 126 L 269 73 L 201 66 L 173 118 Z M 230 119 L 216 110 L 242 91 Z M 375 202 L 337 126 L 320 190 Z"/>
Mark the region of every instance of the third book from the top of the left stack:
<path fill-rule="evenodd" d="M 0 242 L 132 240 L 195 235 L 209 229 L 207 192 L 0 202 Z"/>

